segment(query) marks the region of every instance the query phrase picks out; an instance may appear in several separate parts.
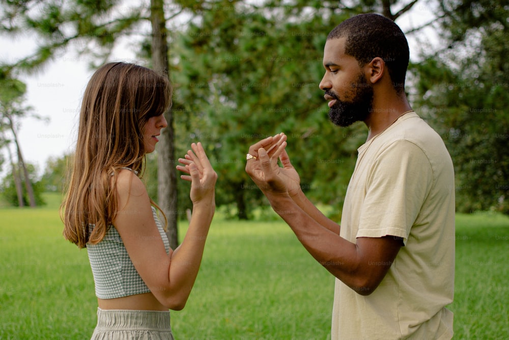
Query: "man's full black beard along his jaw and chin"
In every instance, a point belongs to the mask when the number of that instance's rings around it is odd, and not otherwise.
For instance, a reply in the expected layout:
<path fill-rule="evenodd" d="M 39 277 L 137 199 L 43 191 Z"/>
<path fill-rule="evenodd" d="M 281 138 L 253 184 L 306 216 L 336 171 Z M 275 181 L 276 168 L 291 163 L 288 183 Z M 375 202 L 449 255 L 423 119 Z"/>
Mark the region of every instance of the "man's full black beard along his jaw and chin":
<path fill-rule="evenodd" d="M 362 73 L 350 86 L 355 91 L 355 97 L 349 102 L 340 100 L 335 92 L 325 91 L 336 99 L 329 110 L 329 119 L 337 126 L 347 127 L 357 121 L 364 121 L 373 109 L 373 87 L 366 82 Z"/>

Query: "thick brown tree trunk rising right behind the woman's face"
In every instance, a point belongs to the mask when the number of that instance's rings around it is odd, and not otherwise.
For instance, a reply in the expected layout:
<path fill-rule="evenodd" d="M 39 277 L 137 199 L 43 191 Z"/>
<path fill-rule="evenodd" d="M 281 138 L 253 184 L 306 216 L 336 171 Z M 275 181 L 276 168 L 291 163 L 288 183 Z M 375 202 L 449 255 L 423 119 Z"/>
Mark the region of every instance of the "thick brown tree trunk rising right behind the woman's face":
<path fill-rule="evenodd" d="M 164 1 L 151 0 L 150 21 L 152 22 L 152 65 L 154 70 L 164 72 L 169 78 L 168 41 Z M 157 200 L 168 220 L 166 234 L 170 246 L 175 249 L 178 239 L 177 169 L 175 168 L 174 126 L 171 108 L 165 113 L 168 126 L 161 130 L 157 156 Z"/>

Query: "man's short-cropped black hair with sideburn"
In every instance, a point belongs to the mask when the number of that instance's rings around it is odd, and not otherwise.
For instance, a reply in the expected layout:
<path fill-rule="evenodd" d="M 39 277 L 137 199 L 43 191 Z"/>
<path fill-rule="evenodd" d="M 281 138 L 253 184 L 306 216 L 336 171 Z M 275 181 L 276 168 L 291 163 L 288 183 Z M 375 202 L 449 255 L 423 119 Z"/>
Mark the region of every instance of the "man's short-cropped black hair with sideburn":
<path fill-rule="evenodd" d="M 405 89 L 409 50 L 405 34 L 389 18 L 379 14 L 359 14 L 338 24 L 327 40 L 346 37 L 345 53 L 354 57 L 360 66 L 375 57 L 385 61 L 390 79 L 398 93 Z"/>

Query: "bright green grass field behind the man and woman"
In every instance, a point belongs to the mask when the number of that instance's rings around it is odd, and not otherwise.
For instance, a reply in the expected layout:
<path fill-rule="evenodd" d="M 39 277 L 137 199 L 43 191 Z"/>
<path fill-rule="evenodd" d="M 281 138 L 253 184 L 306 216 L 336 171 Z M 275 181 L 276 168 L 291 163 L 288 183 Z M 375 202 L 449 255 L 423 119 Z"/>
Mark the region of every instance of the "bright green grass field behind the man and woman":
<path fill-rule="evenodd" d="M 97 301 L 87 251 L 62 237 L 59 196 L 0 209 L 0 339 L 86 339 Z M 186 223 L 182 223 L 181 237 Z M 457 216 L 455 339 L 509 337 L 509 218 Z M 327 339 L 333 277 L 284 222 L 217 218 L 177 339 Z"/>

